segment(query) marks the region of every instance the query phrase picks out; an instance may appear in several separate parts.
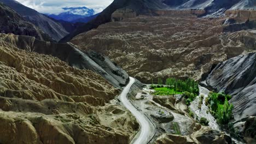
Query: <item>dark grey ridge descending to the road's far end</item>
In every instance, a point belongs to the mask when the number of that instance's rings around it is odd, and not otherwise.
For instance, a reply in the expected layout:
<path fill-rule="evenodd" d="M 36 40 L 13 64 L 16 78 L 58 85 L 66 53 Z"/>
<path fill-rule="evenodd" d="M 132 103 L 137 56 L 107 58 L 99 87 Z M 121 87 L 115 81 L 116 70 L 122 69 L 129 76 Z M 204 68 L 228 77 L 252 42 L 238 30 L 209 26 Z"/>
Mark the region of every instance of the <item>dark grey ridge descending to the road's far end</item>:
<path fill-rule="evenodd" d="M 8 43 L 32 52 L 52 55 L 67 62 L 72 67 L 88 69 L 102 75 L 115 87 L 121 87 L 129 81 L 129 75 L 112 63 L 106 56 L 94 51 L 81 51 L 70 43 L 49 43 L 24 35 L 10 34 L 4 39 Z"/>

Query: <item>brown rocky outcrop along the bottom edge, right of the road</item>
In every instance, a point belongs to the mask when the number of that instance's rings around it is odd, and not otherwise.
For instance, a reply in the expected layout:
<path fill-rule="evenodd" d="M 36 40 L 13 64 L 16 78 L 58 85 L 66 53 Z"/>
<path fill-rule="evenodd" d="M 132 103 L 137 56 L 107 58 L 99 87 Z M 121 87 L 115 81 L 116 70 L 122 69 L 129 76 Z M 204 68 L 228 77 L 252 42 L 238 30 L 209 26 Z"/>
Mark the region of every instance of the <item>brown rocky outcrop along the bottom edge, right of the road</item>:
<path fill-rule="evenodd" d="M 231 138 L 224 133 L 203 127 L 188 136 L 162 134 L 155 141 L 156 144 L 179 144 L 179 143 L 232 143 Z"/>

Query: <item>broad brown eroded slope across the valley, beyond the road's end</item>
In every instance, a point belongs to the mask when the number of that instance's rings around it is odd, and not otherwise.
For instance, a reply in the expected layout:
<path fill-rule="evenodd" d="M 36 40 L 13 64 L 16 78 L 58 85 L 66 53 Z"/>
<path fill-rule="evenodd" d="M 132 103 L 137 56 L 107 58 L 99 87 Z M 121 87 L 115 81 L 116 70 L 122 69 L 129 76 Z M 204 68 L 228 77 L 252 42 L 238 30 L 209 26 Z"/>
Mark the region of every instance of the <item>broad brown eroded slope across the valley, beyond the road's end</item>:
<path fill-rule="evenodd" d="M 110 22 L 71 43 L 104 53 L 146 83 L 167 77 L 199 80 L 213 64 L 255 50 L 253 32 L 224 33 L 225 19 L 197 18 L 194 13 L 200 11 L 161 11 L 161 16 Z"/>

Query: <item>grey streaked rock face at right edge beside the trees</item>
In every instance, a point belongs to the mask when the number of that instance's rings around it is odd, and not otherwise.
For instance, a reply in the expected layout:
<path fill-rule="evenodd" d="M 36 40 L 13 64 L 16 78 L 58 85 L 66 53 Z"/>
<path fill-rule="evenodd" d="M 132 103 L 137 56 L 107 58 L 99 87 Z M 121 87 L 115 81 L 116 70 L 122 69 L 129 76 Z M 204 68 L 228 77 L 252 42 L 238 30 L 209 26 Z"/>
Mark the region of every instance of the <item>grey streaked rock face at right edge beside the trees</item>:
<path fill-rule="evenodd" d="M 256 116 L 256 53 L 220 63 L 206 78 L 206 85 L 232 95 L 235 119 Z"/>

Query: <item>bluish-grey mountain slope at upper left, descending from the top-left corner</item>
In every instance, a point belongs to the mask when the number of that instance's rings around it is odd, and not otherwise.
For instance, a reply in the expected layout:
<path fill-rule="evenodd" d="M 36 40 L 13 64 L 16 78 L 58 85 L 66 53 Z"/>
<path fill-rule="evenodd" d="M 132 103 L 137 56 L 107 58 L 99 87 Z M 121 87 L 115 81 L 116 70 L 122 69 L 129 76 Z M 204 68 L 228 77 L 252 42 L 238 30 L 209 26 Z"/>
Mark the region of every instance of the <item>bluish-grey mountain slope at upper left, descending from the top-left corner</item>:
<path fill-rule="evenodd" d="M 24 17 L 26 21 L 39 27 L 55 41 L 59 41 L 68 34 L 65 27 L 63 27 L 60 22 L 54 21 L 48 16 L 38 13 L 36 10 L 25 7 L 14 0 L 0 0 L 0 2 L 8 5 L 11 9 L 14 9 L 19 15 Z"/>

